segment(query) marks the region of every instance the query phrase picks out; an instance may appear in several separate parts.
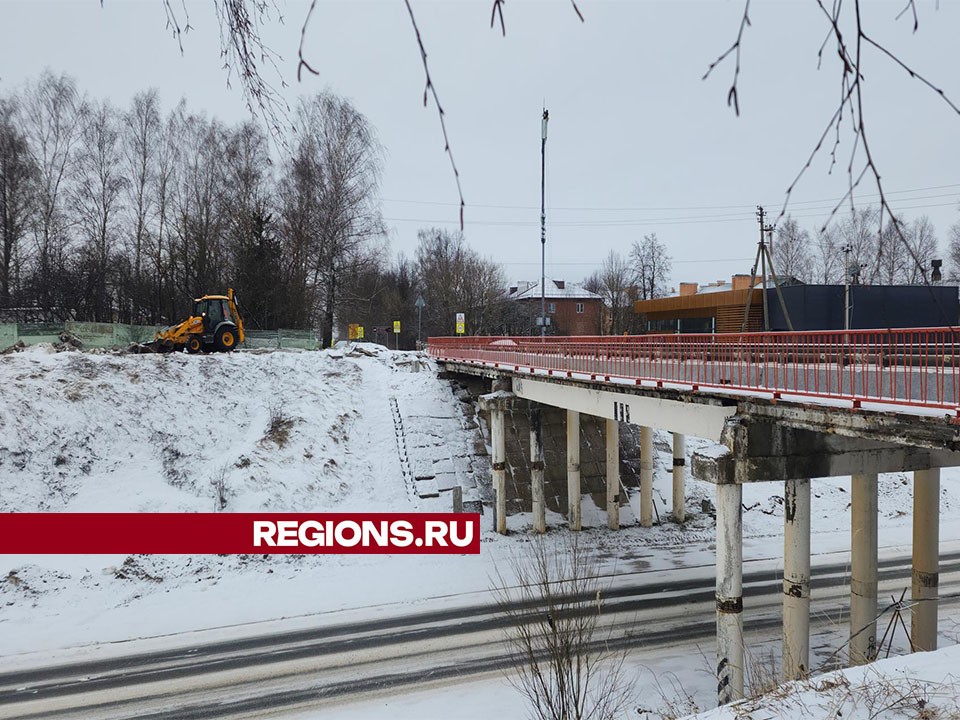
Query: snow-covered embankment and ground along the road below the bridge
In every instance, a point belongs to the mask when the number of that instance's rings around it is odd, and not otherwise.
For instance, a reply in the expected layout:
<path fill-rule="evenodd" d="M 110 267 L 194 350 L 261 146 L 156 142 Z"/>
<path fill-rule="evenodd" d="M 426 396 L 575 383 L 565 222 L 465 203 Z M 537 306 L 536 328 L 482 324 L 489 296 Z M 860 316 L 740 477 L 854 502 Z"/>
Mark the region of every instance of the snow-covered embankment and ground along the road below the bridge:
<path fill-rule="evenodd" d="M 475 440 L 469 418 L 447 384 L 432 372 L 413 371 L 409 354 L 366 347 L 374 356 L 136 356 L 42 346 L 0 356 L 0 511 L 212 511 L 220 509 L 221 481 L 227 512 L 448 510 L 449 494 L 423 498 L 411 487 L 397 451 L 391 398 L 409 435 L 419 438 L 409 442 L 411 466 L 434 468 L 441 484 L 458 478 L 465 492 L 476 470 L 468 453 Z M 689 452 L 704 446 L 688 439 Z M 669 437 L 658 434 L 656 447 L 655 499 L 666 520 Z M 960 474 L 945 471 L 943 479 L 946 543 L 960 540 L 954 520 Z M 815 482 L 815 553 L 848 552 L 849 489 L 845 478 Z M 881 476 L 880 492 L 881 545 L 908 547 L 909 478 Z M 611 572 L 653 577 L 700 568 L 712 576 L 713 520 L 703 501 L 713 495 L 712 485 L 689 480 L 684 527 L 665 522 L 642 529 L 627 510 L 628 527 L 615 535 L 603 529 L 604 513 L 586 498 L 584 521 L 596 529 L 585 537 Z M 775 569 L 782 554 L 782 486 L 746 487 L 744 506 L 745 559 L 768 559 Z M 529 516 L 511 517 L 514 533 L 506 538 L 490 532 L 489 515 L 482 522 L 481 554 L 472 557 L 3 556 L 0 670 L 64 653 L 100 653 L 109 650 L 104 643 L 135 638 L 208 628 L 255 633 L 278 618 L 303 624 L 325 613 L 396 613 L 425 598 L 468 602 L 488 589 L 494 564 L 529 539 Z M 549 522 L 563 525 L 559 516 Z M 702 701 L 712 694 L 712 680 L 699 655 L 691 663 L 660 652 L 636 664 L 653 668 L 644 681 L 651 688 L 669 682 L 674 665 L 689 671 L 695 664 L 700 670 L 684 680 L 702 686 L 697 706 L 709 706 Z M 474 691 L 486 700 L 463 703 Z M 410 716 L 400 710 L 422 710 L 430 698 L 445 695 L 458 698 L 465 711 L 477 710 L 452 717 L 519 713 L 511 710 L 514 691 L 498 679 L 423 691 L 420 699 L 394 698 L 391 712 Z M 337 717 L 378 715 L 369 703 L 341 710 Z"/>

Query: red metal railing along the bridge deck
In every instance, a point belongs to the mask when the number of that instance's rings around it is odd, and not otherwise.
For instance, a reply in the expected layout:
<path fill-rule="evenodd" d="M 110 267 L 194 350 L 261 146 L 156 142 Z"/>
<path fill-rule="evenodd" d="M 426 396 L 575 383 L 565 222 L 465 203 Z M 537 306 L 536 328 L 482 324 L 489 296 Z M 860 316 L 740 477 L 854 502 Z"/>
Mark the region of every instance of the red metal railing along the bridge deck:
<path fill-rule="evenodd" d="M 439 337 L 438 360 L 558 377 L 728 393 L 772 393 L 960 407 L 960 330 L 853 330 L 726 335 Z M 848 405 L 849 407 L 849 405 Z"/>

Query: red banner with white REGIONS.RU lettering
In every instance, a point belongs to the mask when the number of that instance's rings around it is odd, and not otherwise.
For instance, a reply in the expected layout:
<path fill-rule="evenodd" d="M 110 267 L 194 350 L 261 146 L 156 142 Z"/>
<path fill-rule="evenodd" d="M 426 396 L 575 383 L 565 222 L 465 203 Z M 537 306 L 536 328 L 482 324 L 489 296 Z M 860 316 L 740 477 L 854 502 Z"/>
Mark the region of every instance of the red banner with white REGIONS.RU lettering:
<path fill-rule="evenodd" d="M 476 513 L 4 513 L 0 554 L 478 554 Z"/>

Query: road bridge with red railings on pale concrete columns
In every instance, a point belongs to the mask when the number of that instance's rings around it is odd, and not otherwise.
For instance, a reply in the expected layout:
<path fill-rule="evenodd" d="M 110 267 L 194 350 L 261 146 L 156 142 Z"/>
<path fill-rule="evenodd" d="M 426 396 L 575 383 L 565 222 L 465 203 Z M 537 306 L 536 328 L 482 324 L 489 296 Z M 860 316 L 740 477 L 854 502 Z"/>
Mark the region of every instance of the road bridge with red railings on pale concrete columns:
<path fill-rule="evenodd" d="M 653 524 L 653 429 L 673 436 L 673 519 L 684 521 L 686 436 L 716 486 L 717 696 L 743 697 L 742 487 L 784 483 L 783 673 L 810 653 L 811 479 L 852 476 L 851 663 L 877 654 L 877 475 L 914 473 L 911 647 L 937 645 L 940 468 L 960 466 L 960 330 L 922 328 L 636 337 L 430 338 L 446 369 L 489 378 L 494 523 L 506 532 L 504 412 L 531 401 L 533 529 L 546 530 L 537 404 L 566 410 L 568 525 L 581 527 L 581 413 L 606 420 L 608 525 L 620 527 L 619 423 L 640 426 L 641 526 Z"/>

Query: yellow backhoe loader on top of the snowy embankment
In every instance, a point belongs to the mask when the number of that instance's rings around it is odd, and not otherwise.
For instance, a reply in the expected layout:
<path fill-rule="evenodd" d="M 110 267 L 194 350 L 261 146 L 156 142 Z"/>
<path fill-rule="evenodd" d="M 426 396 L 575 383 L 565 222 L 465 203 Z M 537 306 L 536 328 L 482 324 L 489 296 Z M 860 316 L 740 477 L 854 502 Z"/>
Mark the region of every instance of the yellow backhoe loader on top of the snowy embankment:
<path fill-rule="evenodd" d="M 193 312 L 182 323 L 163 328 L 143 346 L 153 352 L 229 352 L 244 341 L 243 318 L 233 288 L 226 295 L 204 295 L 193 301 Z"/>

